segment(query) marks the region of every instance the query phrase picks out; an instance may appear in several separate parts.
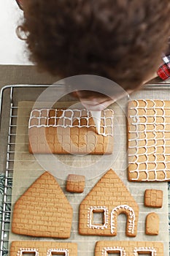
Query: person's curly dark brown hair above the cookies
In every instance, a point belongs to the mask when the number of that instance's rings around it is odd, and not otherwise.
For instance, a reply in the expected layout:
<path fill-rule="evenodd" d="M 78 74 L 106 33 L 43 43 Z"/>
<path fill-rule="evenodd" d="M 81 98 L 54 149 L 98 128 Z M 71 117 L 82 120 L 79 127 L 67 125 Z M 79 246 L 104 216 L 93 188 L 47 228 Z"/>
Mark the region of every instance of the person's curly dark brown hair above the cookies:
<path fill-rule="evenodd" d="M 23 0 L 23 10 L 31 61 L 62 78 L 134 88 L 156 71 L 170 34 L 169 0 Z"/>

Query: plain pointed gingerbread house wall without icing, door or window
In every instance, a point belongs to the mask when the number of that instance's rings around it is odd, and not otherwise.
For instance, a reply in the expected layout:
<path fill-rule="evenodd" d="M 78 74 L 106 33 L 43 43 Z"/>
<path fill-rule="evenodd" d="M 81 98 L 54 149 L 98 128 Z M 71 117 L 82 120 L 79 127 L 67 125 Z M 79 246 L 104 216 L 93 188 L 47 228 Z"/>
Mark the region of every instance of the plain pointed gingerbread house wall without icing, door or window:
<path fill-rule="evenodd" d="M 12 232 L 26 236 L 69 238 L 72 206 L 55 178 L 45 172 L 17 200 Z"/>

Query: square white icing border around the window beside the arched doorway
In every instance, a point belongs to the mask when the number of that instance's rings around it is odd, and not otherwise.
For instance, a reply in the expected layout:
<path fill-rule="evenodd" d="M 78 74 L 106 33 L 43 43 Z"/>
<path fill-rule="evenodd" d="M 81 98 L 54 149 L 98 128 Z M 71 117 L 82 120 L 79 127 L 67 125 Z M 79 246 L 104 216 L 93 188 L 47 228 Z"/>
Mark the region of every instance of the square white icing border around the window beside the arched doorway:
<path fill-rule="evenodd" d="M 93 212 L 98 212 L 98 211 L 100 212 L 101 210 L 103 210 L 104 224 L 103 225 L 93 224 Z M 93 229 L 96 228 L 96 229 L 104 230 L 104 228 L 107 228 L 108 226 L 108 221 L 109 221 L 109 212 L 106 206 L 90 206 L 90 208 L 88 208 L 88 227 Z"/>

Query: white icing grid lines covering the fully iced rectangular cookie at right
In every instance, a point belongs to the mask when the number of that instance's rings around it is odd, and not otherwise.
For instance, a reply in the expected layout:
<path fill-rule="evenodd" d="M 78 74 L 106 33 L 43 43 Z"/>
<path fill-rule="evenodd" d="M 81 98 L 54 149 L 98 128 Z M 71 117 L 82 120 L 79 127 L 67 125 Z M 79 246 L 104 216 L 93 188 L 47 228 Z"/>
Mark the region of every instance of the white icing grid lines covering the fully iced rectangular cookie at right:
<path fill-rule="evenodd" d="M 144 103 L 144 107 L 139 106 L 139 101 L 135 100 L 134 107 L 131 107 L 130 110 L 134 110 L 134 115 L 131 115 L 130 118 L 132 120 L 131 124 L 134 127 L 134 130 L 129 131 L 130 134 L 135 135 L 133 138 L 129 139 L 129 143 L 133 143 L 134 145 L 129 146 L 129 148 L 134 148 L 135 152 L 133 154 L 128 154 L 128 157 L 131 157 L 131 161 L 129 160 L 129 164 L 136 165 L 135 170 L 131 170 L 130 173 L 136 173 L 136 178 L 132 178 L 132 180 L 137 181 L 141 180 L 140 173 L 145 173 L 146 177 L 142 178 L 142 181 L 151 181 L 150 178 L 150 172 L 154 173 L 154 177 L 152 178 L 152 181 L 159 181 L 158 179 L 158 171 L 162 171 L 164 178 L 161 178 L 161 181 L 167 181 L 169 178 L 167 177 L 167 171 L 169 171 L 168 164 L 170 165 L 170 160 L 167 159 L 167 157 L 170 156 L 170 151 L 168 151 L 168 148 L 166 148 L 166 143 L 170 140 L 170 138 L 165 138 L 165 135 L 167 132 L 170 132 L 170 123 L 169 121 L 166 121 L 167 118 L 169 118 L 170 108 L 165 106 L 165 102 L 163 100 L 159 100 L 161 102 L 161 107 L 156 106 L 156 102 L 154 100 L 142 100 L 142 103 Z M 152 107 L 148 106 L 148 103 L 152 102 Z M 145 113 L 147 113 L 148 110 L 152 110 L 154 115 L 139 115 L 139 110 L 144 110 Z M 161 110 L 161 113 L 158 114 L 157 110 Z M 167 113 L 167 110 L 169 111 Z M 161 117 L 163 118 L 163 123 L 156 124 L 156 118 Z M 145 122 L 140 121 L 140 118 L 145 118 Z M 153 118 L 152 123 L 148 123 L 148 118 Z M 160 126 L 160 129 L 158 129 L 158 125 Z M 167 125 L 169 127 L 167 127 Z M 139 130 L 140 127 L 142 127 L 142 130 Z M 152 132 L 153 138 L 147 138 L 148 132 Z M 162 134 L 161 138 L 158 137 L 158 132 Z M 140 138 L 140 135 L 144 135 L 144 138 Z M 158 145 L 159 142 L 162 141 L 160 145 Z M 139 145 L 141 142 L 145 142 L 144 146 Z M 151 145 L 150 145 L 151 143 Z M 144 153 L 139 154 L 140 148 L 144 148 Z M 148 153 L 149 149 L 153 148 L 150 153 Z M 158 153 L 158 148 L 163 148 L 163 152 L 161 155 L 164 157 L 164 161 L 158 160 L 158 156 L 160 153 Z M 150 161 L 150 155 L 154 157 L 154 160 Z M 142 159 L 144 157 L 144 161 L 142 162 L 139 158 Z M 158 163 L 161 163 L 161 168 L 158 168 Z M 151 167 L 152 165 L 152 167 Z"/>

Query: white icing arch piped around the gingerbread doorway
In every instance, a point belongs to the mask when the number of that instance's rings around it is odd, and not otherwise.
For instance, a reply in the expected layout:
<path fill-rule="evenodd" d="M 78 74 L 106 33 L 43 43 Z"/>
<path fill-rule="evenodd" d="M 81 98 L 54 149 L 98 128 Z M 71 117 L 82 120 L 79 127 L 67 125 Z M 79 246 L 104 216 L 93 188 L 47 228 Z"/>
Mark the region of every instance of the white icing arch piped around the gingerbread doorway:
<path fill-rule="evenodd" d="M 134 225 L 135 225 L 135 213 L 133 208 L 127 205 L 120 205 L 112 209 L 111 212 L 111 233 L 115 233 L 116 226 L 115 220 L 117 219 L 117 215 L 121 212 L 126 212 L 128 215 L 127 219 L 127 227 L 128 227 L 128 234 L 134 234 Z"/>

